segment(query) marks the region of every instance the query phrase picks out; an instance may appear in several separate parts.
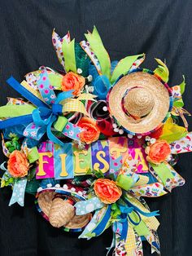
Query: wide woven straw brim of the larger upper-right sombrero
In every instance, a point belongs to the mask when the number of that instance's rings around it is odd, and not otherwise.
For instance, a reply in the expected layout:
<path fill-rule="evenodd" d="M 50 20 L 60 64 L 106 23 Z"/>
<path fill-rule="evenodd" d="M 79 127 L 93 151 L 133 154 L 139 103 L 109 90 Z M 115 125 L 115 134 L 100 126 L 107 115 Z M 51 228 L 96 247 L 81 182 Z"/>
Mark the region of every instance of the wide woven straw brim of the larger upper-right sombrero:
<path fill-rule="evenodd" d="M 121 105 L 126 90 L 135 86 L 146 88 L 154 98 L 151 113 L 139 120 L 124 113 Z M 169 97 L 168 88 L 155 75 L 135 72 L 122 77 L 111 89 L 108 95 L 108 105 L 111 115 L 116 118 L 120 126 L 134 134 L 146 134 L 163 123 L 170 107 Z"/>

